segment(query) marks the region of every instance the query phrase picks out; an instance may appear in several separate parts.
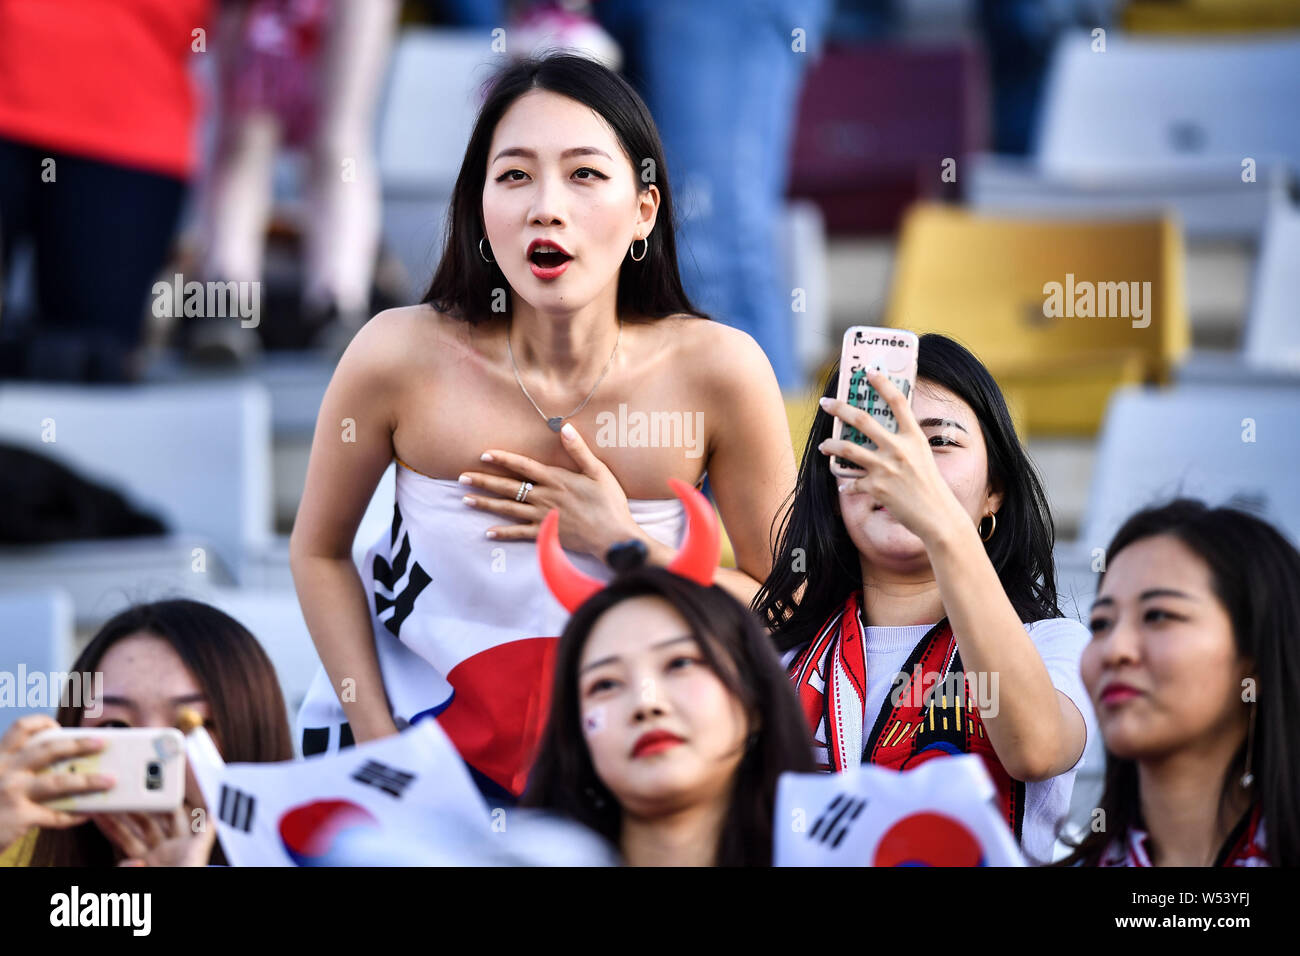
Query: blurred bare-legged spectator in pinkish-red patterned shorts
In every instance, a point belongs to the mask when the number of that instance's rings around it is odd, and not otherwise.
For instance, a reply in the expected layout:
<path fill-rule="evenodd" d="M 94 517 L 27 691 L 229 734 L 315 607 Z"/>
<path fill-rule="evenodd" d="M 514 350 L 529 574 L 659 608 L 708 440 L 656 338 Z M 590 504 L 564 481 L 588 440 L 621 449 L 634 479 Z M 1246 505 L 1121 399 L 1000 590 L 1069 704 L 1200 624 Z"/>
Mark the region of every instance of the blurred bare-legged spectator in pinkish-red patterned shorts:
<path fill-rule="evenodd" d="M 380 242 L 374 108 L 396 17 L 396 0 L 252 0 L 221 22 L 203 278 L 261 280 L 276 155 L 304 150 L 303 312 L 313 343 L 334 352 L 369 317 Z M 196 356 L 238 359 L 259 343 L 226 316 L 190 321 L 186 333 Z"/>

